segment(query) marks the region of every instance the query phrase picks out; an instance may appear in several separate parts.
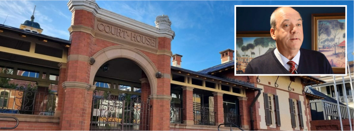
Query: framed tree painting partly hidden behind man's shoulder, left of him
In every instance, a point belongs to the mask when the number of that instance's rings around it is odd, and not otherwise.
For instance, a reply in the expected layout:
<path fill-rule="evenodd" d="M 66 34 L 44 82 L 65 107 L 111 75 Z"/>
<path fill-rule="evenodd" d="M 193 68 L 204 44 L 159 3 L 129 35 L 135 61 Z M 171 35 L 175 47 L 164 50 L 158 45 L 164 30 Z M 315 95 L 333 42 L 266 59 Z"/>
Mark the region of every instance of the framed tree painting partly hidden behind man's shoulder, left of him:
<path fill-rule="evenodd" d="M 244 74 L 247 64 L 253 58 L 272 51 L 275 47 L 275 40 L 270 36 L 270 31 L 237 31 L 236 74 Z"/>

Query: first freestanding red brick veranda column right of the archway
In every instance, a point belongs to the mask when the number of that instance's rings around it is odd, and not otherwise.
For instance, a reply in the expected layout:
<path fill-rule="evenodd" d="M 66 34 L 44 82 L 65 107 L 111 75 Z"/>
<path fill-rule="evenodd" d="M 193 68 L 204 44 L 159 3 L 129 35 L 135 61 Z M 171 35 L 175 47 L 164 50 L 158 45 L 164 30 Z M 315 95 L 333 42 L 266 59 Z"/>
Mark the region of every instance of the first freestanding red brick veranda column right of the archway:
<path fill-rule="evenodd" d="M 183 124 L 193 125 L 193 89 L 194 87 L 183 86 Z"/>

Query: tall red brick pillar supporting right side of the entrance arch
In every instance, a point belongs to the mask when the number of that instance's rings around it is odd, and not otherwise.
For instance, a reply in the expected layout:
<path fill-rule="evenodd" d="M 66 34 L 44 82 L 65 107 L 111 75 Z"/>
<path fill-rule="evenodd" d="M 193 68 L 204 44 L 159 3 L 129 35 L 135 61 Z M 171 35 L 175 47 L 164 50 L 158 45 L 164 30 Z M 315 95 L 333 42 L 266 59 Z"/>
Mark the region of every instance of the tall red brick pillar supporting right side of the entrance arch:
<path fill-rule="evenodd" d="M 171 39 L 159 37 L 159 50 L 171 51 Z M 170 102 L 171 102 L 171 55 L 156 55 L 156 67 L 162 73 L 162 77 L 157 78 L 156 94 L 150 98 L 150 121 L 149 130 L 170 130 Z"/>

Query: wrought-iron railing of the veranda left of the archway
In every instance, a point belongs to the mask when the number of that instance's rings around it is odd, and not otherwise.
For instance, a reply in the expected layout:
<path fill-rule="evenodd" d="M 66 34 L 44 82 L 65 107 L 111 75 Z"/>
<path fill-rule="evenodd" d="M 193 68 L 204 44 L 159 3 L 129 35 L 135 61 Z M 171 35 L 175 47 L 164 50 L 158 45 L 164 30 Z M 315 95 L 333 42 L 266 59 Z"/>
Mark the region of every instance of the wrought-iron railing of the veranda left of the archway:
<path fill-rule="evenodd" d="M 0 88 L 0 113 L 37 114 L 53 116 L 57 94 L 48 88 Z"/>

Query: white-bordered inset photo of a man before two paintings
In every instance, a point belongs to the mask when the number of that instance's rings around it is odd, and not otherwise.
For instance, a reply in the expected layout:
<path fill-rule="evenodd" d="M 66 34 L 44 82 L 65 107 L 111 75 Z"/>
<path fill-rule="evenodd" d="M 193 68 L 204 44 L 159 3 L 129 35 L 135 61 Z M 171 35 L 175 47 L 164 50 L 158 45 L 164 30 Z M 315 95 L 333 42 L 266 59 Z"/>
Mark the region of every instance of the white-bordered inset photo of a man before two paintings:
<path fill-rule="evenodd" d="M 235 75 L 345 75 L 346 25 L 346 6 L 235 6 Z"/>

